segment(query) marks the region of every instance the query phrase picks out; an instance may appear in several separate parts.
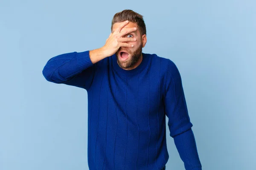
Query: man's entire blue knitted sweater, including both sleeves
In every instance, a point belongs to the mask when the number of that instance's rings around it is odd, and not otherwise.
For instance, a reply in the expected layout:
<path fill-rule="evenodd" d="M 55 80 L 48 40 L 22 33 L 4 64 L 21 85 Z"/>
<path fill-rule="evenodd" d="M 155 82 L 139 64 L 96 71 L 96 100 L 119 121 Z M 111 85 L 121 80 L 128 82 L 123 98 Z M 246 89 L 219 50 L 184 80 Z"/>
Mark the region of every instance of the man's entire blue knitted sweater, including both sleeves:
<path fill-rule="evenodd" d="M 180 73 L 170 59 L 143 53 L 128 71 L 115 54 L 93 64 L 89 51 L 71 52 L 49 59 L 43 75 L 87 91 L 90 170 L 161 170 L 169 159 L 166 116 L 185 169 L 201 170 Z"/>

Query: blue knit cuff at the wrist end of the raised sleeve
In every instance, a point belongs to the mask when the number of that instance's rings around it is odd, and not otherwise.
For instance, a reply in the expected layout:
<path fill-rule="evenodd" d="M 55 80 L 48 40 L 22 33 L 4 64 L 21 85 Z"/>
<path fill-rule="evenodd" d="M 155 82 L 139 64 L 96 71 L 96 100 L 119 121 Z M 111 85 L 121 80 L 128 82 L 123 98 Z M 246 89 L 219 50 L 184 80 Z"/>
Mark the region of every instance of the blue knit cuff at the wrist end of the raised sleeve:
<path fill-rule="evenodd" d="M 84 70 L 93 65 L 89 56 L 89 51 L 77 52 L 76 62 L 80 70 Z"/>

